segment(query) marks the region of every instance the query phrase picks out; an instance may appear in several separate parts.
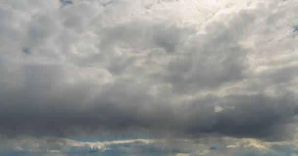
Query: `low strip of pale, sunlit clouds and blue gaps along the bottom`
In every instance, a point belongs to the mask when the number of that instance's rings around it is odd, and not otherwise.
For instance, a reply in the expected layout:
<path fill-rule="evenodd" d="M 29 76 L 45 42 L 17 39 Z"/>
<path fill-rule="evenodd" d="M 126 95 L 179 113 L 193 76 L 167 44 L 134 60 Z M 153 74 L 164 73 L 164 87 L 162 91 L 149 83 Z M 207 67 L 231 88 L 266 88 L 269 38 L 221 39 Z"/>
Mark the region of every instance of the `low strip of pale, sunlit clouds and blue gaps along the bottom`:
<path fill-rule="evenodd" d="M 26 141 L 24 141 L 26 140 Z M 58 137 L 17 137 L 6 140 L 5 156 L 296 156 L 297 141 L 255 139 L 130 139 L 80 142 Z M 296 152 L 295 152 L 296 151 Z"/>

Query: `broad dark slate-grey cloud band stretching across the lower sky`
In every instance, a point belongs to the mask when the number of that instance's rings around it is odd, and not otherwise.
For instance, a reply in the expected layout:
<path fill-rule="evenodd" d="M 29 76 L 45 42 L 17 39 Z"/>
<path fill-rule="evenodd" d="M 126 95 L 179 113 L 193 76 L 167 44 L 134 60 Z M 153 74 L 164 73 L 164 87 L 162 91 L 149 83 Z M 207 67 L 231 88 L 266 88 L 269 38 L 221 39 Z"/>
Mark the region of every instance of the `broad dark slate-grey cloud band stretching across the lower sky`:
<path fill-rule="evenodd" d="M 3 134 L 32 132 L 35 135 L 70 136 L 82 132 L 93 134 L 100 129 L 129 134 L 132 129 L 145 129 L 157 136 L 158 132 L 180 137 L 219 133 L 280 139 L 284 136 L 286 121 L 297 113 L 297 98 L 293 95 L 210 97 L 184 104 L 181 108 L 173 107 L 153 101 L 153 97 L 144 93 L 144 88 L 136 87 L 129 80 L 107 86 L 90 101 L 88 83 L 61 86 L 63 78 L 59 78 L 61 70 L 58 67 L 38 66 L 23 70 L 27 70 L 28 78 L 22 90 L 1 93 Z M 60 87 L 63 90 L 57 92 Z M 215 101 L 218 105 L 233 108 L 214 112 L 212 103 Z"/>

